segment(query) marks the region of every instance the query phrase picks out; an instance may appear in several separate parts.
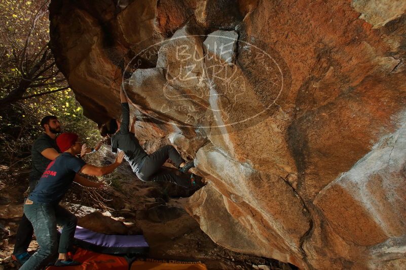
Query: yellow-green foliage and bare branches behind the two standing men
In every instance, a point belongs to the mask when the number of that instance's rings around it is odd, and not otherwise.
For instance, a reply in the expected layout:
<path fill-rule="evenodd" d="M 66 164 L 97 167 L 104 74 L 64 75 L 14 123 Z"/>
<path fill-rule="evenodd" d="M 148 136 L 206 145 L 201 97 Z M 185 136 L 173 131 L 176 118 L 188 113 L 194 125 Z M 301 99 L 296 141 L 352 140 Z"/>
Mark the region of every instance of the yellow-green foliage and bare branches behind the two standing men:
<path fill-rule="evenodd" d="M 0 102 L 11 94 L 19 96 L 0 108 L 0 165 L 13 169 L 31 166 L 30 147 L 44 132 L 39 122 L 46 115 L 57 116 L 62 131 L 78 133 L 90 146 L 100 139 L 96 124 L 83 115 L 69 88 L 36 96 L 67 87 L 48 48 L 48 4 L 0 1 Z"/>

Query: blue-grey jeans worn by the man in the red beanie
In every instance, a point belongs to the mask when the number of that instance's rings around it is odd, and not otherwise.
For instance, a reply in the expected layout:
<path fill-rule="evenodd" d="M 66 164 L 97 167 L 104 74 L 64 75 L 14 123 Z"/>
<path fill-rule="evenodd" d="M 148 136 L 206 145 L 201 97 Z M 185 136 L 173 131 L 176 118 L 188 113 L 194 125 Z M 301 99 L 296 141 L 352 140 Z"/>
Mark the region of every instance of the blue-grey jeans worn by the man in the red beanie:
<path fill-rule="evenodd" d="M 40 246 L 20 268 L 20 270 L 41 269 L 46 266 L 58 251 L 67 253 L 75 236 L 78 218 L 59 204 L 24 204 L 24 214 L 32 223 L 36 242 Z M 56 224 L 63 226 L 58 249 Z"/>

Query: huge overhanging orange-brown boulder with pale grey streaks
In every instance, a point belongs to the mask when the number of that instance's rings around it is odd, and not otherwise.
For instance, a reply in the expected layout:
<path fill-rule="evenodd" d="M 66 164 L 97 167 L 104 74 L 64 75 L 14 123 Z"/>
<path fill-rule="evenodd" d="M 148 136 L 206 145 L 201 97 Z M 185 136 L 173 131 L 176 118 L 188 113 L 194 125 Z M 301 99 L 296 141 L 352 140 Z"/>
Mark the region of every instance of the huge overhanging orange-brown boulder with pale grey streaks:
<path fill-rule="evenodd" d="M 406 268 L 403 1 L 52 0 L 56 62 L 101 123 L 131 99 L 227 248 L 304 269 Z M 137 116 L 137 117 L 135 117 Z"/>

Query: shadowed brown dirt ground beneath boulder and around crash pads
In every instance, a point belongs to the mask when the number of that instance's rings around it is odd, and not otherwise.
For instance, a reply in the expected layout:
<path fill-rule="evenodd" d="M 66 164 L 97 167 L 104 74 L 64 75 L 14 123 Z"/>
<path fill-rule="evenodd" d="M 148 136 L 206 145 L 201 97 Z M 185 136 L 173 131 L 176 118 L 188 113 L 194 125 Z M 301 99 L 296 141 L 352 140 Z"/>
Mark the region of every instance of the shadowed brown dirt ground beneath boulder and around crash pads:
<path fill-rule="evenodd" d="M 5 202 L 22 203 L 27 183 L 26 176 L 11 184 L 6 183 L 0 190 L 0 201 L 3 198 Z M 141 229 L 150 245 L 149 258 L 201 261 L 208 269 L 253 269 L 257 265 L 261 265 L 261 269 L 296 269 L 287 263 L 233 252 L 215 244 L 183 209 L 186 199 L 182 197 L 189 196 L 193 191 L 172 185 L 144 183 L 127 167 L 107 178 L 106 183 L 111 184 L 97 193 L 73 184 L 63 202 L 108 211 L 112 218 L 123 221 L 130 233 L 134 228 Z M 19 218 L 2 218 L 0 216 L 0 223 L 10 230 L 10 236 L 2 240 L 0 270 L 18 269 L 10 256 Z M 103 224 L 99 226 L 103 229 Z M 32 241 L 29 250 L 36 248 L 36 242 Z"/>

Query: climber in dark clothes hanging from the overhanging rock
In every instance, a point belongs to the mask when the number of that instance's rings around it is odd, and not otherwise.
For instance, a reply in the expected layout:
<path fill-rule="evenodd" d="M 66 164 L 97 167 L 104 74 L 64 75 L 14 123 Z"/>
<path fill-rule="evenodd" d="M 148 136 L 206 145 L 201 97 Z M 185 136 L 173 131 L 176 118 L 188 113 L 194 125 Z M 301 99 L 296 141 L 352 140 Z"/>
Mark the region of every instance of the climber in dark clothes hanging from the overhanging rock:
<path fill-rule="evenodd" d="M 101 136 L 111 138 L 113 153 L 124 151 L 125 160 L 142 181 L 170 182 L 185 188 L 195 186 L 195 175 L 186 174 L 195 166 L 193 161 L 186 163 L 173 146 L 163 146 L 151 155 L 145 153 L 135 134 L 130 132 L 130 108 L 123 89 L 120 90 L 120 98 L 122 121 L 110 119 L 100 130 Z M 161 168 L 168 158 L 175 163 L 178 171 Z"/>

